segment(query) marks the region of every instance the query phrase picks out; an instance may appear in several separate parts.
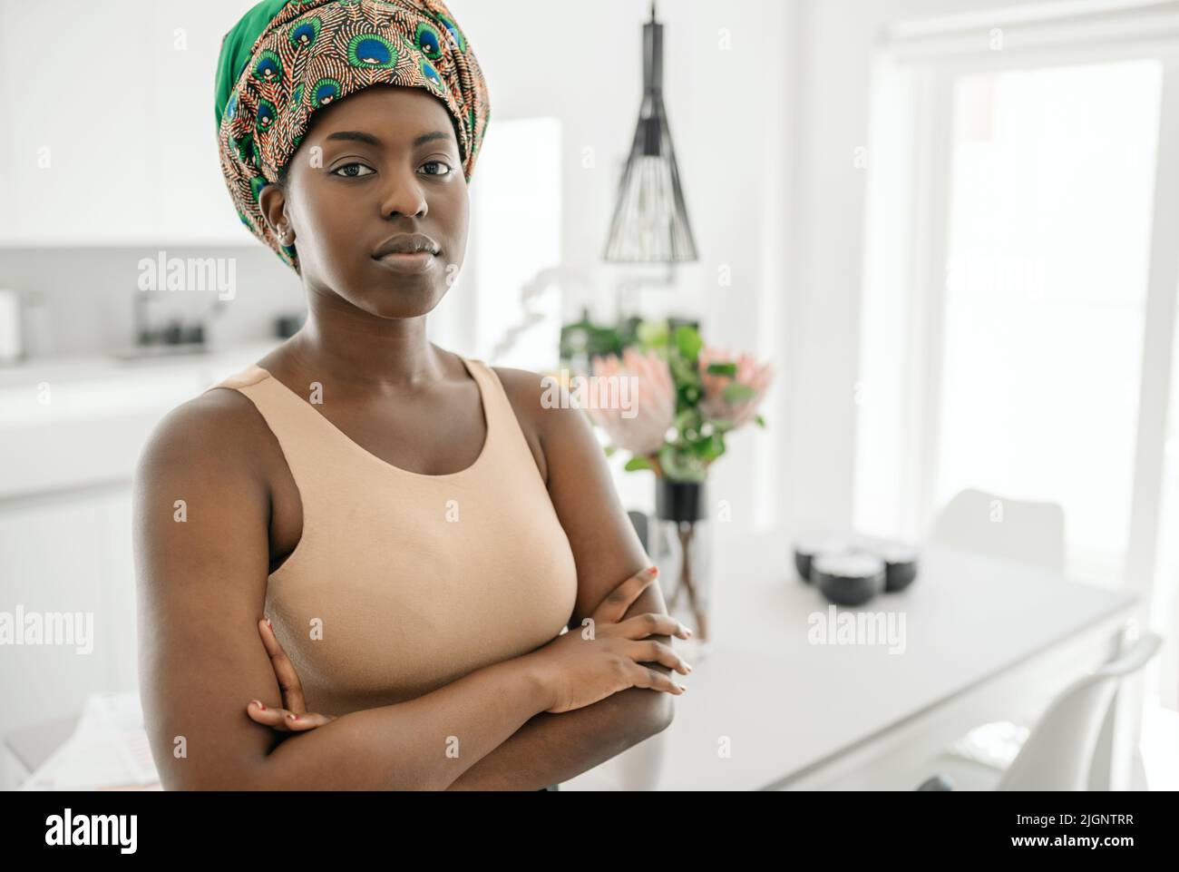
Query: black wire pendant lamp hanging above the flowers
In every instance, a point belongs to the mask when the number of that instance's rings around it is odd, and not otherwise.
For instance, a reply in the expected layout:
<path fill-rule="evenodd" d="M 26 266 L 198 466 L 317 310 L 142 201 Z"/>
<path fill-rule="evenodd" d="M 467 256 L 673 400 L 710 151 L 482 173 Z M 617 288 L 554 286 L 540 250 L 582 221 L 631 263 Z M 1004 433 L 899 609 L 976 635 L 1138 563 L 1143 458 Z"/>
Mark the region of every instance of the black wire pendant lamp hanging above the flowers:
<path fill-rule="evenodd" d="M 696 260 L 696 241 L 679 184 L 663 101 L 663 25 L 643 25 L 643 104 L 631 156 L 618 185 L 618 203 L 602 254 L 618 263 L 673 263 Z"/>

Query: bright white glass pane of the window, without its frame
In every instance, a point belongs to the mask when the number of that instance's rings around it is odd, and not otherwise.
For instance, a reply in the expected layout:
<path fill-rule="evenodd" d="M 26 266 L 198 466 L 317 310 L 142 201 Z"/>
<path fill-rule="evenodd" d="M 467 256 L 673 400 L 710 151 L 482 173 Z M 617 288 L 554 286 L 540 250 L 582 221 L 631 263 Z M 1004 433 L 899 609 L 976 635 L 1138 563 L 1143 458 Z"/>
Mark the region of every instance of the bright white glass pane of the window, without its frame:
<path fill-rule="evenodd" d="M 1126 560 L 1160 87 L 1158 60 L 953 85 L 935 504 L 1059 503 L 1094 579 Z"/>

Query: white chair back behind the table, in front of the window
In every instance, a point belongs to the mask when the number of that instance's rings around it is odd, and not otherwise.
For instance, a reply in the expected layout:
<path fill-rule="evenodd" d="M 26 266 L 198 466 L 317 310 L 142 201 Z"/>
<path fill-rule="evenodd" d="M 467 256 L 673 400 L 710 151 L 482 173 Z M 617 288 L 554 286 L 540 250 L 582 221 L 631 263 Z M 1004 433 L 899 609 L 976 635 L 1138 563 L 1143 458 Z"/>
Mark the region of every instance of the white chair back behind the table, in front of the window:
<path fill-rule="evenodd" d="M 942 509 L 929 538 L 1049 572 L 1065 571 L 1065 510 L 1056 503 L 1008 499 L 970 487 Z"/>

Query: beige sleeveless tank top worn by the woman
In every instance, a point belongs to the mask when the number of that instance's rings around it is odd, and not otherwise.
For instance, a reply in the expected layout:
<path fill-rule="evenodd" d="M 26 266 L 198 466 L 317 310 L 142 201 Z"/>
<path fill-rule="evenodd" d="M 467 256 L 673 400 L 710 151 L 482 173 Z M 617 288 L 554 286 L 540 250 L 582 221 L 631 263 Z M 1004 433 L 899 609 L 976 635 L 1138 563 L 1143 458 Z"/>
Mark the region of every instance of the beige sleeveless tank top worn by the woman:
<path fill-rule="evenodd" d="M 420 696 L 546 644 L 572 617 L 573 552 L 536 461 L 499 375 L 462 361 L 487 437 L 444 476 L 381 460 L 257 365 L 209 388 L 250 398 L 298 486 L 303 535 L 268 579 L 265 614 L 311 712 Z"/>

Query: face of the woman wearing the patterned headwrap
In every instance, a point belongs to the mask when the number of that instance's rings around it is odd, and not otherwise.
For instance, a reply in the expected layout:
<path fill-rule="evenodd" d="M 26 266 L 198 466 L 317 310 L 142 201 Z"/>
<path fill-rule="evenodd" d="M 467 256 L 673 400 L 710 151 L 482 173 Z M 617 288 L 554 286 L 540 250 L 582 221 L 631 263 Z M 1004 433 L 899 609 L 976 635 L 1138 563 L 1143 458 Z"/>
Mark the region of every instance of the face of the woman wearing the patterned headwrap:
<path fill-rule="evenodd" d="M 459 143 L 442 103 L 422 88 L 373 86 L 316 111 L 285 185 L 266 185 L 272 227 L 295 231 L 312 291 L 380 317 L 430 312 L 462 265 L 469 202 Z M 433 254 L 377 258 L 399 235 Z"/>

